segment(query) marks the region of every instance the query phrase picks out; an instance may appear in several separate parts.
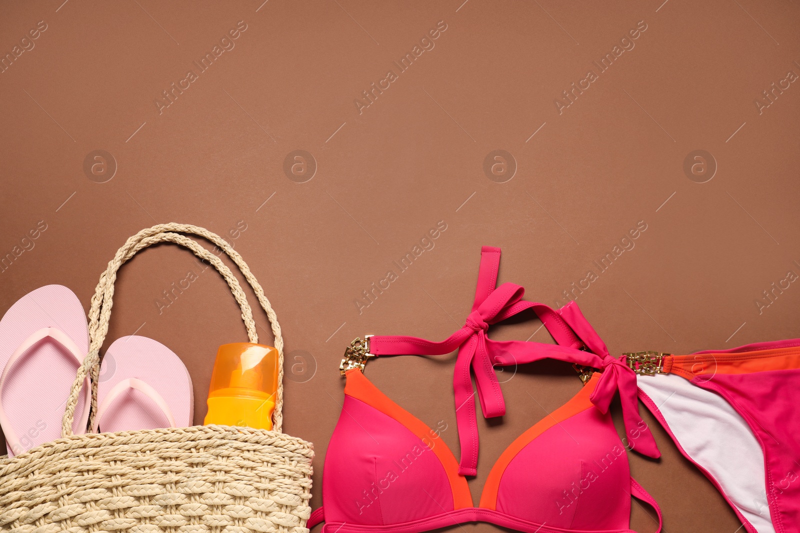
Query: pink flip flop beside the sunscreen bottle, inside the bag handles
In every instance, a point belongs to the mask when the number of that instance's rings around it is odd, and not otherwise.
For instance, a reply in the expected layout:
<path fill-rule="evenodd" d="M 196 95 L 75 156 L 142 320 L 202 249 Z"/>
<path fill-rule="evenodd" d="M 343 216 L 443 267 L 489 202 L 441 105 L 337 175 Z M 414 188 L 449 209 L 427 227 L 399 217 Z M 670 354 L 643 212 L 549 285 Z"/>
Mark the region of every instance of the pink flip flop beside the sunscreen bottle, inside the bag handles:
<path fill-rule="evenodd" d="M 92 432 L 186 428 L 192 416 L 192 380 L 170 348 L 143 336 L 114 340 L 100 366 Z"/>

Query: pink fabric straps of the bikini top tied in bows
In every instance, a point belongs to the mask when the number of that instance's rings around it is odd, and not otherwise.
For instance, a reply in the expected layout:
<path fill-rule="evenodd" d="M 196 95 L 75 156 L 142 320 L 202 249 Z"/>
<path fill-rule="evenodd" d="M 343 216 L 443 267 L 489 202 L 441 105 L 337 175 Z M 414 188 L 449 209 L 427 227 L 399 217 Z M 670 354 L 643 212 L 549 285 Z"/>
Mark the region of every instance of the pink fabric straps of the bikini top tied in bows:
<path fill-rule="evenodd" d="M 628 445 L 645 455 L 658 457 L 660 454 L 653 436 L 638 415 L 638 388 L 634 372 L 622 360 L 610 356 L 606 344 L 574 302 L 556 312 L 544 304 L 522 300 L 525 289 L 519 285 L 504 283 L 495 288 L 499 261 L 500 249 L 490 246 L 482 248 L 478 288 L 472 310 L 466 318 L 466 324 L 446 340 L 431 342 L 411 336 L 370 338 L 370 352 L 375 356 L 444 355 L 458 348 L 453 376 L 458 440 L 461 444 L 458 473 L 477 474 L 478 421 L 471 374 L 475 376 L 483 416 L 502 416 L 506 414 L 506 404 L 494 365 L 525 364 L 546 358 L 601 369 L 602 376 L 590 400 L 605 413 L 619 391 Z M 528 308 L 536 312 L 558 344 L 497 341 L 486 336 L 490 324 L 497 324 Z"/>

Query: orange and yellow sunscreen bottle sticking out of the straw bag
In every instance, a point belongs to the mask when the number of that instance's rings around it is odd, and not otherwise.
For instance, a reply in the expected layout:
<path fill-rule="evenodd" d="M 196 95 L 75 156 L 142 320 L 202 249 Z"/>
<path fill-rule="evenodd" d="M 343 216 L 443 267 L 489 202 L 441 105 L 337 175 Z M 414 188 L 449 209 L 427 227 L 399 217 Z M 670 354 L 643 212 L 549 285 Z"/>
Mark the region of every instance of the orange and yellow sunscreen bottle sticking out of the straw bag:
<path fill-rule="evenodd" d="M 263 344 L 222 344 L 214 362 L 204 424 L 272 429 L 278 392 L 278 350 Z"/>

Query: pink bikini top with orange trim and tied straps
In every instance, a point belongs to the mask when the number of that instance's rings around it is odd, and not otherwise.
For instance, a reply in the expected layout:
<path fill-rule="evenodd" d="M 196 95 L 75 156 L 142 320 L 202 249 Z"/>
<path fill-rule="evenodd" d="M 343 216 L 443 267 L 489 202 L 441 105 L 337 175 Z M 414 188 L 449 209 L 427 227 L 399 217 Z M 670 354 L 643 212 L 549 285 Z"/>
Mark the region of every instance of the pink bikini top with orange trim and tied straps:
<path fill-rule="evenodd" d="M 630 496 L 661 511 L 630 477 L 627 449 L 657 458 L 650 429 L 638 414 L 636 375 L 570 302 L 558 311 L 522 300 L 524 289 L 495 288 L 500 249 L 484 246 L 478 289 L 463 328 L 442 342 L 410 336 L 372 336 L 372 356 L 444 355 L 458 349 L 455 392 L 461 460 L 421 420 L 382 394 L 362 373 L 346 370 L 345 398 L 325 459 L 324 507 L 308 527 L 326 533 L 417 533 L 487 522 L 528 533 L 631 531 Z M 532 308 L 558 344 L 486 336 L 496 324 Z M 491 468 L 478 507 L 467 475 L 476 475 L 478 426 L 471 374 L 483 416 L 506 412 L 494 365 L 553 358 L 597 368 L 574 398 L 534 424 Z M 471 372 L 470 372 L 471 368 Z M 586 374 L 588 374 L 587 371 Z M 620 440 L 609 405 L 619 392 L 626 437 Z M 624 443 L 624 444 L 623 444 Z M 323 511 L 324 508 L 324 511 Z"/>

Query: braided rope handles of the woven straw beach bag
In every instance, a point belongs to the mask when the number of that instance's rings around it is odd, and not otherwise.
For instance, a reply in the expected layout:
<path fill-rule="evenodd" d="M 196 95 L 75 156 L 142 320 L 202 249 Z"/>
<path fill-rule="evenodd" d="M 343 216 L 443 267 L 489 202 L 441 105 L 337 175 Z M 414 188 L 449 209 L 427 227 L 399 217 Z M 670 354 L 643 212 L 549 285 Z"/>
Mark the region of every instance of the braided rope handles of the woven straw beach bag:
<path fill-rule="evenodd" d="M 237 265 L 239 270 L 245 276 L 250 287 L 258 298 L 258 303 L 261 304 L 266 316 L 270 321 L 270 327 L 274 335 L 275 349 L 278 350 L 278 391 L 275 394 L 275 410 L 273 413 L 274 430 L 277 432 L 282 431 L 283 426 L 283 337 L 281 334 L 281 326 L 278 324 L 278 316 L 275 314 L 270 300 L 267 300 L 264 294 L 264 289 L 258 283 L 250 267 L 247 266 L 242 256 L 236 252 L 227 241 L 219 237 L 216 233 L 212 233 L 205 228 L 200 228 L 194 225 L 186 224 L 159 224 L 154 225 L 152 228 L 142 229 L 139 233 L 130 237 L 125 245 L 118 249 L 114 259 L 109 261 L 108 268 L 100 276 L 100 281 L 92 296 L 91 307 L 89 311 L 89 336 L 90 346 L 89 353 L 83 360 L 81 367 L 78 368 L 75 381 L 70 391 L 70 397 L 66 402 L 66 410 L 62 419 L 62 436 L 72 435 L 72 424 L 75 414 L 75 406 L 78 404 L 78 396 L 83 387 L 83 381 L 86 376 L 90 376 L 92 386 L 92 403 L 89 427 L 93 423 L 94 416 L 97 413 L 97 384 L 100 372 L 100 348 L 106 340 L 108 333 L 108 324 L 111 316 L 111 308 L 113 307 L 114 298 L 114 281 L 117 279 L 117 271 L 126 261 L 141 249 L 150 245 L 158 244 L 159 242 L 172 242 L 190 249 L 194 255 L 200 257 L 203 261 L 208 261 L 222 274 L 222 277 L 228 283 L 230 291 L 233 293 L 235 300 L 242 308 L 242 320 L 244 320 L 247 329 L 247 336 L 250 342 L 258 343 L 258 332 L 256 332 L 256 324 L 253 320 L 253 311 L 250 304 L 247 302 L 245 292 L 239 284 L 233 272 L 228 268 L 220 259 L 207 249 L 198 245 L 189 237 L 178 235 L 178 233 L 192 233 L 199 237 L 205 238 L 207 241 L 213 242 L 219 249 L 227 254 L 228 257 Z"/>

